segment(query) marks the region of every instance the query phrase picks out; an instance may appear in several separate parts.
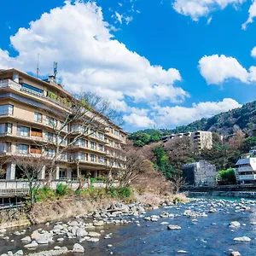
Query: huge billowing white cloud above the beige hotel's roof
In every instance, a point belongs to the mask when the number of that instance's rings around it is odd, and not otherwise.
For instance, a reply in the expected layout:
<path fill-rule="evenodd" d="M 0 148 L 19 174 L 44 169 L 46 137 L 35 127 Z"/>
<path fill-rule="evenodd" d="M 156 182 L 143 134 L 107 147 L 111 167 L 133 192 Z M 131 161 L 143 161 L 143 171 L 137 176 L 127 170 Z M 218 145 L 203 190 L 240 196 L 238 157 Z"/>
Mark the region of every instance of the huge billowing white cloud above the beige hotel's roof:
<path fill-rule="evenodd" d="M 121 102 L 122 108 L 125 96 L 134 102 L 182 102 L 189 96 L 173 85 L 181 80 L 177 69 L 152 66 L 114 39 L 102 9 L 93 2 L 67 1 L 28 28 L 20 28 L 10 41 L 19 55 L 12 58 L 0 49 L 0 67 L 35 72 L 40 54 L 40 75 L 51 73 L 52 63 L 57 61 L 58 75 L 67 90 L 96 91 Z"/>

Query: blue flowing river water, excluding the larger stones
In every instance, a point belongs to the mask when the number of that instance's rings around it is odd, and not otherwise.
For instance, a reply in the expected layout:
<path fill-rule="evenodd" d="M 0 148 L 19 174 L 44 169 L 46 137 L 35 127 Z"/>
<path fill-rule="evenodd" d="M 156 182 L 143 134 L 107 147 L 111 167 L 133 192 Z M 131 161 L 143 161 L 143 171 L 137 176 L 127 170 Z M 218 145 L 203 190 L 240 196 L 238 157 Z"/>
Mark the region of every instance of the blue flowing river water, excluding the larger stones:
<path fill-rule="evenodd" d="M 241 255 L 256 255 L 256 201 L 234 201 L 218 199 L 201 199 L 172 207 L 163 207 L 144 216 L 160 215 L 161 212 L 173 213 L 174 218 L 159 218 L 157 221 L 146 221 L 144 217 L 136 218 L 131 224 L 106 225 L 96 230 L 104 230 L 104 234 L 112 233 L 110 239 L 101 239 L 99 242 L 83 241 L 85 255 L 181 255 L 180 250 L 186 251 L 185 255 L 230 255 L 230 251 L 238 251 Z M 184 216 L 183 212 L 205 212 L 207 217 Z M 237 221 L 241 226 L 231 228 L 230 222 Z M 180 230 L 167 230 L 168 222 L 178 225 Z M 52 226 L 33 226 L 32 230 L 43 228 L 50 230 Z M 22 249 L 24 253 L 31 253 L 24 249 L 20 242 L 23 236 L 15 236 L 16 230 L 7 231 L 9 240 L 0 238 L 0 254 Z M 32 230 L 27 230 L 31 232 Z M 235 237 L 247 236 L 251 241 L 234 241 Z M 14 241 L 12 241 L 14 240 Z M 76 239 L 65 239 L 46 246 L 37 247 L 34 251 L 49 250 L 58 246 L 72 249 Z M 113 245 L 109 248 L 108 244 Z M 33 251 L 32 251 L 33 252 Z M 79 255 L 79 253 L 69 253 Z"/>

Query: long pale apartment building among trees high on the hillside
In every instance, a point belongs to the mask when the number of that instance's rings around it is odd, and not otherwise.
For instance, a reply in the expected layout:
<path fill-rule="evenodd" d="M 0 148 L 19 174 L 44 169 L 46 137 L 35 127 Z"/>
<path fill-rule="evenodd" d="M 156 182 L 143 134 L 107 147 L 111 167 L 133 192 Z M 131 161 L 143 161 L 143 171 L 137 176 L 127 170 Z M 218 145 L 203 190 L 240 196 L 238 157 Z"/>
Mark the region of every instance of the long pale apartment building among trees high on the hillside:
<path fill-rule="evenodd" d="M 201 150 L 204 148 L 212 148 L 212 132 L 211 131 L 194 131 L 170 134 L 168 136 L 162 137 L 163 143 L 172 140 L 177 137 L 189 137 L 190 147 L 193 150 Z"/>

